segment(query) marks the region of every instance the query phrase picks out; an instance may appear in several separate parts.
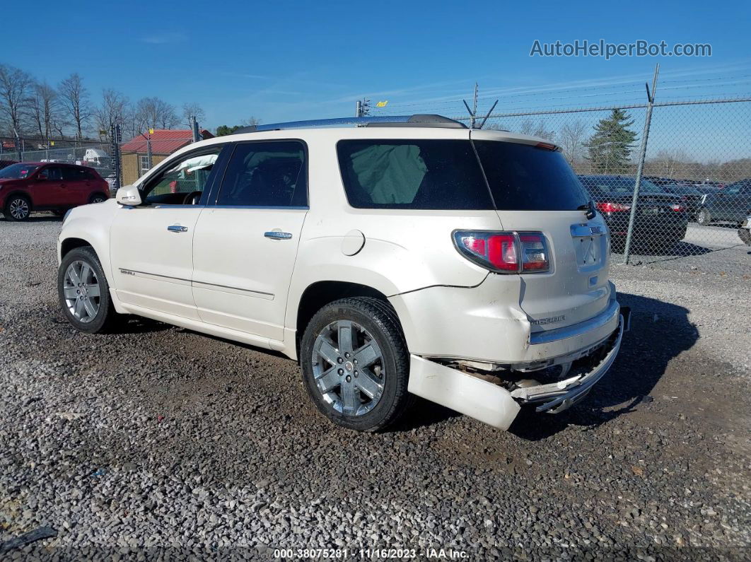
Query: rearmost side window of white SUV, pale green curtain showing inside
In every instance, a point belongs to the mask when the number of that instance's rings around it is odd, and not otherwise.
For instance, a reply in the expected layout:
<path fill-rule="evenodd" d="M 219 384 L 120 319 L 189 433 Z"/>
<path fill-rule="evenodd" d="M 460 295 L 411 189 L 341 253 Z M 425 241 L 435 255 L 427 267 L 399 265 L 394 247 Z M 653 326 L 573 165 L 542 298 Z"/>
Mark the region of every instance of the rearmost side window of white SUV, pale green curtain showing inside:
<path fill-rule="evenodd" d="M 336 152 L 357 209 L 493 209 L 469 140 L 340 140 Z"/>

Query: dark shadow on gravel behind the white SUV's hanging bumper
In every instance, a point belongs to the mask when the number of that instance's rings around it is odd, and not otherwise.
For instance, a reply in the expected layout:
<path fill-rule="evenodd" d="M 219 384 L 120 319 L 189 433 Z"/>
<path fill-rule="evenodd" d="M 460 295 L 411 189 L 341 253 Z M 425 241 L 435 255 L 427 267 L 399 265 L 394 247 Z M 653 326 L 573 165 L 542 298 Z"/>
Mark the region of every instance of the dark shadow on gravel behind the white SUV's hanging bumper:
<path fill-rule="evenodd" d="M 647 398 L 671 359 L 689 350 L 698 330 L 688 310 L 670 302 L 619 293 L 618 301 L 632 309 L 631 331 L 623 336 L 611 371 L 579 404 L 557 415 L 523 408 L 509 431 L 527 440 L 541 440 L 569 425 L 596 427 L 630 413 Z"/>

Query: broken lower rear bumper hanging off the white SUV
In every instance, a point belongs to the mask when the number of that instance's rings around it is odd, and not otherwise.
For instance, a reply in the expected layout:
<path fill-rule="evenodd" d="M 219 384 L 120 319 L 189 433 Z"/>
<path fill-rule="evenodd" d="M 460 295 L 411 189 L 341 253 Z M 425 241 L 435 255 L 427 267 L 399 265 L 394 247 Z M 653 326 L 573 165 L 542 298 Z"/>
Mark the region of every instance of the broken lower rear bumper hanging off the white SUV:
<path fill-rule="evenodd" d="M 620 308 L 619 313 L 617 328 L 605 342 L 605 355 L 584 374 L 509 392 L 472 374 L 412 355 L 409 392 L 503 430 L 514 421 L 520 404 L 537 404 L 538 412 L 562 412 L 584 398 L 613 365 L 630 323 L 628 308 Z"/>

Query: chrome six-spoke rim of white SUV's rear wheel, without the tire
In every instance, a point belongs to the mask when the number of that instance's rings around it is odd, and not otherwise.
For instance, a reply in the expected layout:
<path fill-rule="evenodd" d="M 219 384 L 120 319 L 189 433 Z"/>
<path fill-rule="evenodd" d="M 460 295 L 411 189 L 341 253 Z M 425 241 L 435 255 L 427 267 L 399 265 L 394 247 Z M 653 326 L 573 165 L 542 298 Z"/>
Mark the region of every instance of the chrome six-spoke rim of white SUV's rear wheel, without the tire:
<path fill-rule="evenodd" d="M 383 395 L 386 372 L 381 347 L 351 320 L 337 320 L 318 334 L 312 366 L 324 400 L 346 416 L 368 413 Z"/>

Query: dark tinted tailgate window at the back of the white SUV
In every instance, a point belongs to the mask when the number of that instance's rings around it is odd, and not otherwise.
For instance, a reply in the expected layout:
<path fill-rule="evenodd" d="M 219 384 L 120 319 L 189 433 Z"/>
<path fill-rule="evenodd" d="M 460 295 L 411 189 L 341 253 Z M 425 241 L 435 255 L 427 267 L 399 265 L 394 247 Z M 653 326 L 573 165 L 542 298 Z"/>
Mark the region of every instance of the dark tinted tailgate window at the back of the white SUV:
<path fill-rule="evenodd" d="M 476 140 L 496 207 L 504 211 L 572 211 L 590 197 L 560 152 Z"/>

